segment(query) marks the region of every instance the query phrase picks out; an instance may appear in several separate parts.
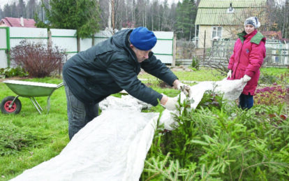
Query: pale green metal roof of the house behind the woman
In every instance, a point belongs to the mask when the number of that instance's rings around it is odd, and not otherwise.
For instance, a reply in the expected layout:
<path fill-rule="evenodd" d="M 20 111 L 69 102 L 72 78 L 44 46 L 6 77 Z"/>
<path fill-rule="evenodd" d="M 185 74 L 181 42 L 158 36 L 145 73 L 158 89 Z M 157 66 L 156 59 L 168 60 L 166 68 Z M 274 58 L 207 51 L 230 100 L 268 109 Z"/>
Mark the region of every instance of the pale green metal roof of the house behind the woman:
<path fill-rule="evenodd" d="M 234 13 L 228 13 L 232 3 Z M 264 8 L 266 0 L 201 0 L 195 24 L 202 25 L 235 25 L 244 22 L 247 15 L 244 10 L 260 12 Z M 253 8 L 253 9 L 252 9 Z"/>

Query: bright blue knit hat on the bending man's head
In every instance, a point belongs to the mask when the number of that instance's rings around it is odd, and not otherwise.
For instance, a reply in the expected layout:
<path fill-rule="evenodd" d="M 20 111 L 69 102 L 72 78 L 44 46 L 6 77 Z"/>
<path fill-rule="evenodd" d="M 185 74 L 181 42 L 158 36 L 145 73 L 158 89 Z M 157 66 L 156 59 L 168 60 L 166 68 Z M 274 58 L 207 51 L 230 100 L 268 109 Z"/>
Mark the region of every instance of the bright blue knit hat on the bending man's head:
<path fill-rule="evenodd" d="M 156 45 L 156 36 L 146 27 L 138 27 L 131 32 L 129 41 L 139 50 L 147 51 Z"/>

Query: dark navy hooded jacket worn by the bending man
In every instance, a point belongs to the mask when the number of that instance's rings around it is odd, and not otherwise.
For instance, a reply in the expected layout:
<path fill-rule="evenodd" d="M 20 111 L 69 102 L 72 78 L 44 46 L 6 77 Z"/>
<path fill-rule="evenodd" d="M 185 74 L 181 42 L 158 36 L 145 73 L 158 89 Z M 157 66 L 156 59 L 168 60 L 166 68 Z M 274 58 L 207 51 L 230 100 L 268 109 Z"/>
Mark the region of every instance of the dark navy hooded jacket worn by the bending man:
<path fill-rule="evenodd" d="M 129 47 L 128 36 L 132 29 L 118 31 L 108 40 L 68 59 L 63 77 L 73 95 L 83 103 L 99 103 L 110 94 L 126 90 L 135 98 L 158 104 L 162 96 L 138 80 L 142 68 L 172 86 L 177 79 L 159 59 L 149 53 L 149 59 L 138 63 L 135 52 Z"/>

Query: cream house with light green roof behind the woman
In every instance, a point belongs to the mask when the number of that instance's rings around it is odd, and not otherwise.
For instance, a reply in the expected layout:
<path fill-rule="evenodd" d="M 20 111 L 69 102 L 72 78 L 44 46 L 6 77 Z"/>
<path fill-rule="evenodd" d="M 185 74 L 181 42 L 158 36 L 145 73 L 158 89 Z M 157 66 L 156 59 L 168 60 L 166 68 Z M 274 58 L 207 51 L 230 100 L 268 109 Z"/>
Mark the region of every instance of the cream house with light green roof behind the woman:
<path fill-rule="evenodd" d="M 246 18 L 256 16 L 262 24 L 267 0 L 200 0 L 195 20 L 198 48 L 210 48 L 212 41 L 235 39 L 244 30 Z M 195 38 L 197 39 L 197 38 Z"/>

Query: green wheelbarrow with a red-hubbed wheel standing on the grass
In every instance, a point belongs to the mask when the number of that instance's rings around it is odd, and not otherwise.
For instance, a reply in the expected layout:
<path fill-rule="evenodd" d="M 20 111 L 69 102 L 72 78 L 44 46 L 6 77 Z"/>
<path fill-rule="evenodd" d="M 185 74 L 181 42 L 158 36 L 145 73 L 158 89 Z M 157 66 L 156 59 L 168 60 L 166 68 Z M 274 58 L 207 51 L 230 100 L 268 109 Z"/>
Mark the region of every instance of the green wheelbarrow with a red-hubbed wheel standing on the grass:
<path fill-rule="evenodd" d="M 34 107 L 41 114 L 43 108 L 36 101 L 35 97 L 48 96 L 47 97 L 47 114 L 50 111 L 50 96 L 54 90 L 63 86 L 63 82 L 59 85 L 48 84 L 41 82 L 28 82 L 22 80 L 5 80 L 3 81 L 17 96 L 7 96 L 1 101 L 0 108 L 4 114 L 18 114 L 22 108 L 22 104 L 18 97 L 27 97 L 33 103 Z"/>

